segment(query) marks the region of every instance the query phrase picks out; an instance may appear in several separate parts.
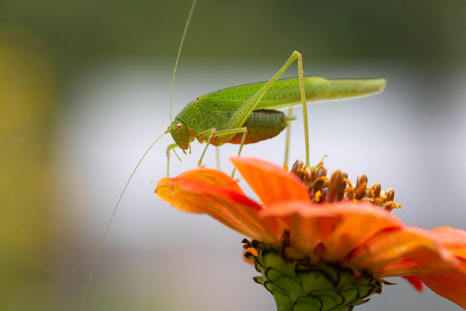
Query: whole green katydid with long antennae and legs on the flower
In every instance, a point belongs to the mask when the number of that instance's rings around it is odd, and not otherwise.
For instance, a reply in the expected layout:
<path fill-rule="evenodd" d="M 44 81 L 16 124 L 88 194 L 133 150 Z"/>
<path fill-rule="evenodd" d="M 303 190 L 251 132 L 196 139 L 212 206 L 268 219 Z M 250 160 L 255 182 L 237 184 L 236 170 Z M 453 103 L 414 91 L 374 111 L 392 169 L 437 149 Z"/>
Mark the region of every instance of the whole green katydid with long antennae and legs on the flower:
<path fill-rule="evenodd" d="M 173 92 L 173 82 L 175 80 L 179 55 L 196 1 L 197 0 L 193 0 L 192 2 L 191 10 L 189 12 L 185 30 L 178 49 L 178 56 L 171 84 L 171 94 Z M 285 71 L 285 69 L 287 69 L 295 60 L 298 60 L 298 76 L 294 78 L 278 79 L 283 71 Z M 201 143 L 206 141 L 206 147 L 199 159 L 199 166 L 201 166 L 202 158 L 204 157 L 209 144 L 215 146 L 223 145 L 225 143 L 240 144 L 240 150 L 238 153 L 238 155 L 240 155 L 244 144 L 255 143 L 264 139 L 272 138 L 287 128 L 289 121 L 295 119 L 292 117 L 292 107 L 302 105 L 306 166 L 309 167 L 308 116 L 306 103 L 357 97 L 381 92 L 385 87 L 385 83 L 386 80 L 384 78 L 325 79 L 321 76 L 303 76 L 302 55 L 297 51 L 294 51 L 288 58 L 288 61 L 269 81 L 235 86 L 200 96 L 187 104 L 174 119 L 171 117 L 170 95 L 170 125 L 144 153 L 120 195 L 110 218 L 109 225 L 107 226 L 107 230 L 103 236 L 100 249 L 97 253 L 96 261 L 92 268 L 80 310 L 82 310 L 82 305 L 89 289 L 89 284 L 102 249 L 103 241 L 105 240 L 105 235 L 107 234 L 108 228 L 110 227 L 110 223 L 115 215 L 124 191 L 147 152 L 149 152 L 151 147 L 155 145 L 158 139 L 160 139 L 164 134 L 171 133 L 171 136 L 175 141 L 174 144 L 169 145 L 167 148 L 168 175 L 170 163 L 169 152 L 171 149 L 178 146 L 184 153 L 186 153 L 185 150 L 191 148 L 190 143 L 195 138 L 197 138 Z M 285 116 L 283 112 L 278 111 L 278 109 L 285 108 L 288 108 L 288 116 Z M 288 144 L 289 127 L 287 130 L 285 163 L 288 160 Z M 217 162 L 217 167 L 218 166 L 219 162 Z"/>

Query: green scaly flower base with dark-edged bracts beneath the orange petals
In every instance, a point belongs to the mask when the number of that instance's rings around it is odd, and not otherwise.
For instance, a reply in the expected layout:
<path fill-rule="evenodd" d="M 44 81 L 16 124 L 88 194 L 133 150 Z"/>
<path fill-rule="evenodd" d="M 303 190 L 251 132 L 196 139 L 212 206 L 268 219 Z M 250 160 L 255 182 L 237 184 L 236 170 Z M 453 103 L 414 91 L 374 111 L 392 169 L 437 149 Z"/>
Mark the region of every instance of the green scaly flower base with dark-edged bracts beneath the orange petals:
<path fill-rule="evenodd" d="M 256 242 L 254 248 L 257 256 L 247 252 L 245 257 L 254 261 L 262 276 L 253 279 L 272 293 L 279 311 L 350 311 L 380 293 L 386 282 L 369 273 L 356 276 L 339 263 L 283 258 L 276 245 Z"/>

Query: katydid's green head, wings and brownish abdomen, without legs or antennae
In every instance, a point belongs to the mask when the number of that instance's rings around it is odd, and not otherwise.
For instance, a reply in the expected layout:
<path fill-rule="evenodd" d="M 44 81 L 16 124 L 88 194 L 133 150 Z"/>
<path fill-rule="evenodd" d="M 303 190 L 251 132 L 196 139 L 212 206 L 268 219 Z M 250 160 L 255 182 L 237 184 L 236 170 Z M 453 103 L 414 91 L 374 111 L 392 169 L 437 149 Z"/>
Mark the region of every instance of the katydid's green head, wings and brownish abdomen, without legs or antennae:
<path fill-rule="evenodd" d="M 320 76 L 304 76 L 304 90 L 307 102 L 363 96 L 383 90 L 386 80 L 376 79 L 325 79 Z M 207 140 L 199 133 L 215 128 L 226 130 L 228 120 L 244 102 L 253 97 L 267 82 L 235 86 L 198 97 L 187 104 L 175 117 L 173 124 L 181 124 L 176 128 L 169 126 L 175 143 L 181 149 L 188 149 L 189 143 L 197 138 L 199 142 Z M 272 138 L 283 131 L 289 118 L 281 111 L 301 104 L 298 77 L 279 79 L 270 86 L 260 99 L 254 110 L 241 127 L 247 128 L 244 144 L 255 143 Z M 180 128 L 182 129 L 180 131 Z M 240 144 L 243 133 L 212 137 L 212 145 L 224 143 Z"/>

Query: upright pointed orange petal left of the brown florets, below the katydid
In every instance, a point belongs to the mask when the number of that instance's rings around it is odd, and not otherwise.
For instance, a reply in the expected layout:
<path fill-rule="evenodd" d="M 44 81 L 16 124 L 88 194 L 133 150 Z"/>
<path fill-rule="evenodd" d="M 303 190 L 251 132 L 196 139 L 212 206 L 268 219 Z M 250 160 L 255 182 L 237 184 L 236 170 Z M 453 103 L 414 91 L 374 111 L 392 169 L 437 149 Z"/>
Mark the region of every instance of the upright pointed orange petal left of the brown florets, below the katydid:
<path fill-rule="evenodd" d="M 280 166 L 253 157 L 231 157 L 230 160 L 264 206 L 281 200 L 310 201 L 302 181 Z"/>

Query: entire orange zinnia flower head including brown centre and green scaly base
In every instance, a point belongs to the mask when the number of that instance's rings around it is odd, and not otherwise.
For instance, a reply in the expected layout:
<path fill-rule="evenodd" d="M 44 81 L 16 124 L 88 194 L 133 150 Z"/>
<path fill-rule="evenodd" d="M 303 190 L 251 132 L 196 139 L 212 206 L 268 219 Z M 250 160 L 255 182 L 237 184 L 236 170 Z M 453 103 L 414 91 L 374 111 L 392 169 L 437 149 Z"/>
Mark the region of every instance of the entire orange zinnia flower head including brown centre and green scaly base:
<path fill-rule="evenodd" d="M 261 205 L 225 173 L 204 168 L 164 178 L 155 192 L 252 238 L 246 255 L 262 274 L 254 280 L 279 310 L 351 310 L 388 276 L 408 276 L 417 288 L 422 281 L 466 308 L 465 231 L 403 225 L 389 214 L 399 207 L 393 192 L 367 188 L 365 175 L 352 187 L 339 171 L 328 179 L 322 165 L 290 173 L 255 158 L 231 160 Z"/>

